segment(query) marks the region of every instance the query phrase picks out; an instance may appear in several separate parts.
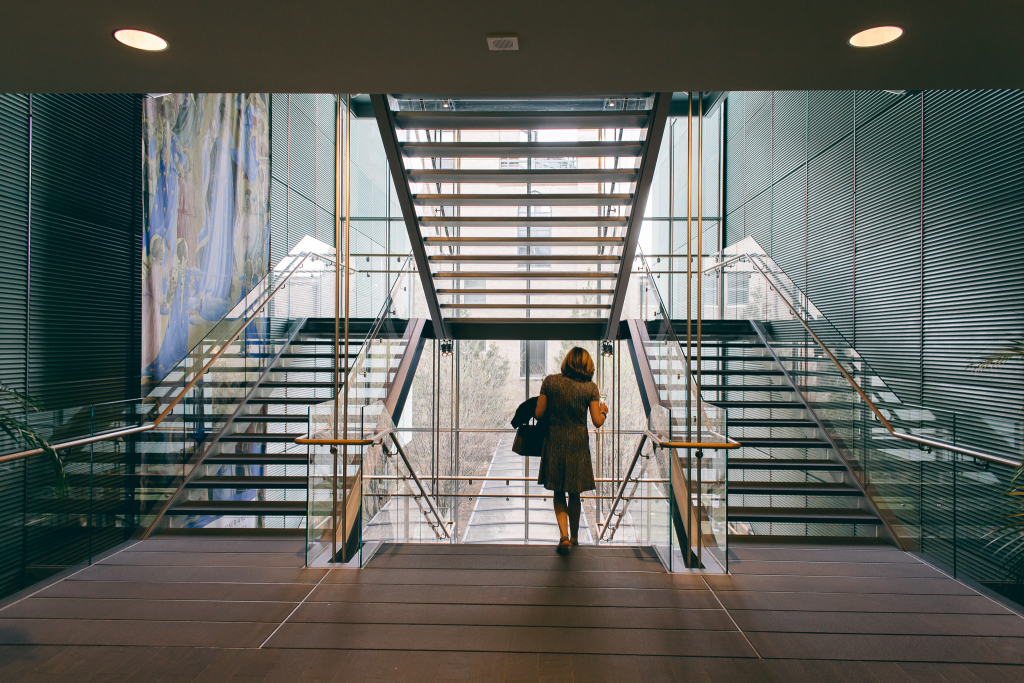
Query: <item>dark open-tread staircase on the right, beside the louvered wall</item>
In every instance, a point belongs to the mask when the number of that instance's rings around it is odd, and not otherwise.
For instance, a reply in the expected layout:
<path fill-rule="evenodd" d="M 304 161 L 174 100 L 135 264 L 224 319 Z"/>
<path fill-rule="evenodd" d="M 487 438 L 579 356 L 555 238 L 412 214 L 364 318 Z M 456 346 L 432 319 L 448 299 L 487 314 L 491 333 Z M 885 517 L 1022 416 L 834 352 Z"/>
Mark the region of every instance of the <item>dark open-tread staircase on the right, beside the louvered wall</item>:
<path fill-rule="evenodd" d="M 759 337 L 756 325 L 703 322 L 701 397 L 727 410 L 728 436 L 741 444 L 728 458 L 730 543 L 766 537 L 787 542 L 838 538 L 887 542 L 887 530 L 870 502 Z M 677 322 L 675 332 L 685 340 L 685 322 L 682 327 Z M 768 339 L 778 347 L 779 342 Z M 673 415 L 683 415 L 685 395 L 671 390 L 675 377 L 668 377 L 678 376 L 681 368 L 669 357 L 656 348 L 648 353 L 663 402 L 672 405 Z M 695 348 L 691 364 L 695 374 Z"/>

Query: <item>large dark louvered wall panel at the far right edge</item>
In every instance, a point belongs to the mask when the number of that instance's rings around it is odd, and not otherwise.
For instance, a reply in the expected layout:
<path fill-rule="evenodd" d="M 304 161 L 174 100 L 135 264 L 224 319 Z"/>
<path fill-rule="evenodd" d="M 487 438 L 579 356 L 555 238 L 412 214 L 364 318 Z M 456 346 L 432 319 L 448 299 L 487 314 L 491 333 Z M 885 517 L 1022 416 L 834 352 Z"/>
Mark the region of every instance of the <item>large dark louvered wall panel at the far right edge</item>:
<path fill-rule="evenodd" d="M 925 94 L 925 397 L 932 405 L 1021 419 L 1019 362 L 983 375 L 966 366 L 1024 335 L 1022 172 L 1024 93 Z"/>

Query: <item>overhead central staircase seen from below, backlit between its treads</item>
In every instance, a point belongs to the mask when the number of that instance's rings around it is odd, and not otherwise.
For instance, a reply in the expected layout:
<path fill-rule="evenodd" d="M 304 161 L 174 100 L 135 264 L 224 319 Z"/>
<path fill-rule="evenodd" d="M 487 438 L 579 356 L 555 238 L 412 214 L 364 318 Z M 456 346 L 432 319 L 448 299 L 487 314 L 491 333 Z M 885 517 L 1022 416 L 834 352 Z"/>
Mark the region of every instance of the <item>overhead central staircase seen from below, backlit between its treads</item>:
<path fill-rule="evenodd" d="M 671 93 L 371 99 L 435 336 L 612 335 Z"/>

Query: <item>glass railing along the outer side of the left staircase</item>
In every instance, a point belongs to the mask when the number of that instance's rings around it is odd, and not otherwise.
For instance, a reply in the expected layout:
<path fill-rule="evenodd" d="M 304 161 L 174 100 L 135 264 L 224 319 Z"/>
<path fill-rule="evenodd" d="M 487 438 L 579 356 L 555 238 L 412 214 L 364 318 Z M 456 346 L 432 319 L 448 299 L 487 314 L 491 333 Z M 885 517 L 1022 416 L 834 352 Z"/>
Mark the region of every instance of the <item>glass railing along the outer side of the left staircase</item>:
<path fill-rule="evenodd" d="M 26 416 L 60 460 L 3 445 L 0 490 L 20 496 L 0 524 L 19 529 L 4 542 L 19 549 L 0 560 L 0 593 L 90 562 L 157 521 L 301 318 L 322 314 L 325 301 L 333 310 L 324 263 L 307 252 L 284 258 L 181 361 L 155 369 L 163 377 L 143 385 L 144 398 Z M 290 290 L 296 279 L 302 286 Z"/>

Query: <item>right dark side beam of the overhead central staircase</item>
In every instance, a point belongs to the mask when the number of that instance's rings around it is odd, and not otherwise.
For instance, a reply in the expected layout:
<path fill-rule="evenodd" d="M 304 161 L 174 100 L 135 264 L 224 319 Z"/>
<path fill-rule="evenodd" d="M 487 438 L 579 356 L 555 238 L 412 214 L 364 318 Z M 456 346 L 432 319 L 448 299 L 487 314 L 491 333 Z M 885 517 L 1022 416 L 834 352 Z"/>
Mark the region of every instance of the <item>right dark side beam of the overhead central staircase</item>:
<path fill-rule="evenodd" d="M 626 244 L 623 245 L 623 258 L 618 263 L 618 275 L 615 278 L 615 294 L 611 301 L 608 327 L 604 333 L 605 339 L 613 339 L 618 331 L 618 318 L 623 314 L 626 290 L 629 287 L 630 273 L 633 270 L 633 257 L 637 252 L 637 240 L 640 239 L 643 214 L 647 208 L 647 197 L 650 195 L 650 183 L 654 178 L 654 167 L 657 165 L 657 153 L 662 147 L 662 137 L 665 134 L 665 124 L 669 120 L 671 108 L 671 92 L 659 92 L 654 95 L 650 123 L 647 125 L 646 143 L 644 144 L 643 157 L 640 160 L 640 170 L 637 173 L 637 188 L 633 195 L 633 206 L 630 208 L 630 224 L 626 230 Z"/>

